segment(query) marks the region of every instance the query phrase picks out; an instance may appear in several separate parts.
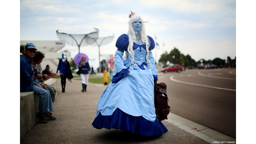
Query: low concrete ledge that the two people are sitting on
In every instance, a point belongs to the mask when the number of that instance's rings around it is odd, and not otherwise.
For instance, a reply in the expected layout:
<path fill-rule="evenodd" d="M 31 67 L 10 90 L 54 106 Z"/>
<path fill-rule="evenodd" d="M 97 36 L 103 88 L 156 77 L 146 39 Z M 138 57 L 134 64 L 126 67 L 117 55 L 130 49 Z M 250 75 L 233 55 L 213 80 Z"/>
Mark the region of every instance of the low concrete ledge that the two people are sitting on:
<path fill-rule="evenodd" d="M 44 83 L 57 89 L 57 79 L 55 78 L 51 78 Z M 36 117 L 36 114 L 39 112 L 38 106 L 39 99 L 37 99 L 37 94 L 34 92 L 20 92 L 20 140 L 39 122 L 39 119 Z"/>

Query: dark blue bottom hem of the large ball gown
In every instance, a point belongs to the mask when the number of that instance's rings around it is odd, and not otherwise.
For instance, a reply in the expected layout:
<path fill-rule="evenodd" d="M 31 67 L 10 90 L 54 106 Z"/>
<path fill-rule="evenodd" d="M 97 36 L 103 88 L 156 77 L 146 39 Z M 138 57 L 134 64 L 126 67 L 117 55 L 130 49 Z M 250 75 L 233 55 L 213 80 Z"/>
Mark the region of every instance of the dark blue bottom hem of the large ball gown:
<path fill-rule="evenodd" d="M 102 116 L 99 113 L 92 125 L 97 129 L 114 128 L 144 136 L 161 136 L 164 132 L 168 131 L 164 124 L 157 119 L 154 122 L 150 122 L 142 116 L 136 117 L 126 114 L 119 108 L 111 116 Z"/>

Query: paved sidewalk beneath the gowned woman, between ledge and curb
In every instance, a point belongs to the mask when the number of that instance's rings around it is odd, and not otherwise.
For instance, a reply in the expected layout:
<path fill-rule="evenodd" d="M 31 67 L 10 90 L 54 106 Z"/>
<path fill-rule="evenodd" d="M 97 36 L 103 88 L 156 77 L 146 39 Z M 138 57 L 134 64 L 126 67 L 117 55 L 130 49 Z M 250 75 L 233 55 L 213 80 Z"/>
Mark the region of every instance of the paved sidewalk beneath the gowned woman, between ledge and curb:
<path fill-rule="evenodd" d="M 87 92 L 82 92 L 81 81 L 72 79 L 66 83 L 65 93 L 61 92 L 60 79 L 57 79 L 58 96 L 53 103 L 53 116 L 56 120 L 47 124 L 37 123 L 21 141 L 21 144 L 207 144 L 208 142 L 167 122 L 168 129 L 162 136 L 140 136 L 129 131 L 116 129 L 96 129 L 91 124 L 101 93 L 107 87 L 103 84 L 89 83 Z"/>

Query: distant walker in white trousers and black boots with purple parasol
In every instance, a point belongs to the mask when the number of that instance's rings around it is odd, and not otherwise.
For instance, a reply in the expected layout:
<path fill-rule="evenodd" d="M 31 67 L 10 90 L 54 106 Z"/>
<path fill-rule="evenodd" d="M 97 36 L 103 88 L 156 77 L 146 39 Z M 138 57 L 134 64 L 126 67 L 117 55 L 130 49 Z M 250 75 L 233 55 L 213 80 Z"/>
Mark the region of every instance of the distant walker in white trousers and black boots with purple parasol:
<path fill-rule="evenodd" d="M 91 74 L 91 68 L 88 61 L 86 61 L 85 55 L 82 56 L 79 69 L 80 69 L 80 76 L 81 76 L 82 88 L 83 88 L 82 92 L 86 92 L 86 87 L 88 85 L 88 80 L 89 80 L 89 74 Z"/>

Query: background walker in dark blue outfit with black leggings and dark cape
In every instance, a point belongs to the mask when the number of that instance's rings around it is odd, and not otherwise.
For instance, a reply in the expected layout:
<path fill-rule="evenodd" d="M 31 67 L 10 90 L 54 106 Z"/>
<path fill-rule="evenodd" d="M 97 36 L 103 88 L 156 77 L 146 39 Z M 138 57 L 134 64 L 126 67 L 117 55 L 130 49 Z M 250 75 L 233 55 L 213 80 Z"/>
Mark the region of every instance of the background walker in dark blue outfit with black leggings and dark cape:
<path fill-rule="evenodd" d="M 65 92 L 66 78 L 68 78 L 68 80 L 70 81 L 73 78 L 66 53 L 62 54 L 62 59 L 59 60 L 59 65 L 56 73 L 58 73 L 58 70 L 60 70 L 62 92 Z"/>

